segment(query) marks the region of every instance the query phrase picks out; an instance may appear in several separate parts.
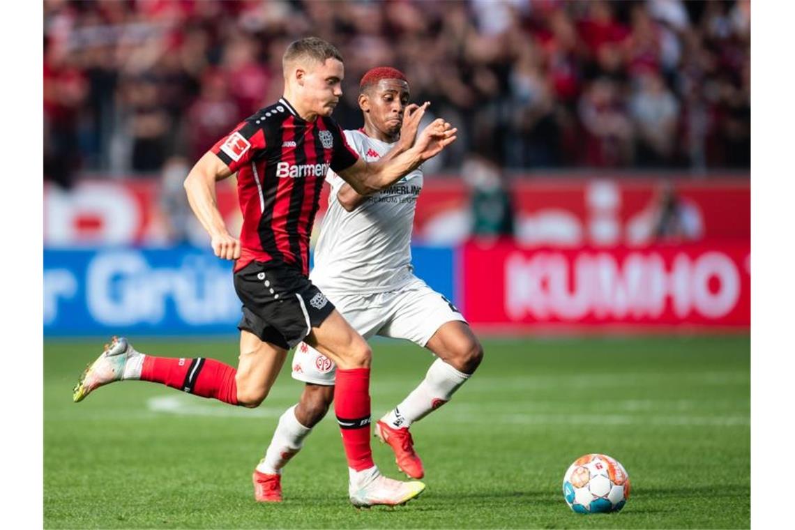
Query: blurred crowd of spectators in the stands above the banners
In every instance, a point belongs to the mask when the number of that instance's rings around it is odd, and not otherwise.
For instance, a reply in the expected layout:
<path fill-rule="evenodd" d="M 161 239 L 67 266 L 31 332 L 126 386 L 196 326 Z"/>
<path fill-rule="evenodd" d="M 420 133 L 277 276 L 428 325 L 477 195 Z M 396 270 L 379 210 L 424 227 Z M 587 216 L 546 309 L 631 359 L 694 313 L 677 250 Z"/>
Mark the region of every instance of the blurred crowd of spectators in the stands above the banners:
<path fill-rule="evenodd" d="M 316 35 L 358 80 L 401 68 L 459 127 L 433 169 L 749 168 L 750 2 L 45 0 L 45 178 L 195 161 L 281 95 Z M 432 116 L 429 116 L 432 118 Z"/>

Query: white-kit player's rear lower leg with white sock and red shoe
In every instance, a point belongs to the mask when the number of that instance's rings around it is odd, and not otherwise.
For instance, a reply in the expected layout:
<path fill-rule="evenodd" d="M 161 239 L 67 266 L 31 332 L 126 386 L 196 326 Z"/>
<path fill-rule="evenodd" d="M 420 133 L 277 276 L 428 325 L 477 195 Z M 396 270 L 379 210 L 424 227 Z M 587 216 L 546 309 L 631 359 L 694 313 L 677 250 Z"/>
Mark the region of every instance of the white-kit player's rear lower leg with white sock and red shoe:
<path fill-rule="evenodd" d="M 270 440 L 265 458 L 259 462 L 258 474 L 262 488 L 254 488 L 254 498 L 259 502 L 281 501 L 281 470 L 301 447 L 312 427 L 323 420 L 334 400 L 334 387 L 307 383 L 298 404 L 288 408 L 279 418 L 276 431 Z M 256 482 L 255 482 L 256 484 Z"/>

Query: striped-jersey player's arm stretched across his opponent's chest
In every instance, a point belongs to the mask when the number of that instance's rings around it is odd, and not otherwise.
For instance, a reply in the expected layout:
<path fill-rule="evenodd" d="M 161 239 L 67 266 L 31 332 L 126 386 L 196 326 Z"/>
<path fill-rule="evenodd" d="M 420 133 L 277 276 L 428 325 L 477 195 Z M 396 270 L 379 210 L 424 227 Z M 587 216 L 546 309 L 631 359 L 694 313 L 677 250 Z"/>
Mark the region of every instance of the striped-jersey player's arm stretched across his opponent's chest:
<path fill-rule="evenodd" d="M 456 141 L 456 132 L 448 122 L 438 118 L 426 126 L 410 149 L 378 162 L 359 159 L 350 168 L 337 172 L 360 195 L 369 195 L 394 184 L 420 164 Z"/>

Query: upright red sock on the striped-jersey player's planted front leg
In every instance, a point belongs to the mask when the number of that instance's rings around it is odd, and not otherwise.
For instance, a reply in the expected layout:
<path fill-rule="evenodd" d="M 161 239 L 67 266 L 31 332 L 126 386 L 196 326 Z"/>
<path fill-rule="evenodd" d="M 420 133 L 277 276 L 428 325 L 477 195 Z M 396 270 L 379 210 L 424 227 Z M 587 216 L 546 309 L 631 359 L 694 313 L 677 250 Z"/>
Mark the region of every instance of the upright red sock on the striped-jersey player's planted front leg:
<path fill-rule="evenodd" d="M 362 471 L 374 466 L 370 451 L 370 369 L 337 369 L 334 412 L 348 467 Z"/>

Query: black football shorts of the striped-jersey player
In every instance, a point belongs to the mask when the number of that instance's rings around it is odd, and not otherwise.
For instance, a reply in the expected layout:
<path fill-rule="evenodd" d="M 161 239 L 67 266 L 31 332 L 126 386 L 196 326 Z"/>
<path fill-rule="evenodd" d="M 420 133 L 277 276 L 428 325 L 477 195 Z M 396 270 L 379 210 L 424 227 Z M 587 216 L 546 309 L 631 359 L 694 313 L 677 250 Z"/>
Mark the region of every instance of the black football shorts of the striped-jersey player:
<path fill-rule="evenodd" d="M 301 271 L 281 262 L 252 261 L 235 273 L 243 304 L 239 330 L 289 350 L 334 311 L 326 296 Z"/>

